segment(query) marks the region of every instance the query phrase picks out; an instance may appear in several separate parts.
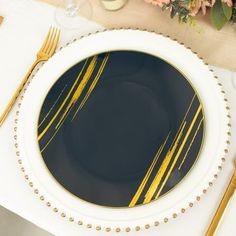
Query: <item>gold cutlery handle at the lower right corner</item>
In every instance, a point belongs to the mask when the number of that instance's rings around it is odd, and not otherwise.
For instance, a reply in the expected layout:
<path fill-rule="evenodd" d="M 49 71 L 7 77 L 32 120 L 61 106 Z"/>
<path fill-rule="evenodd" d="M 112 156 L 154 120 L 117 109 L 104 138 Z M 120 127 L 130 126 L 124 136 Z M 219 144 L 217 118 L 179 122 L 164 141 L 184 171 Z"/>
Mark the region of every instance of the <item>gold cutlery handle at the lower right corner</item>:
<path fill-rule="evenodd" d="M 220 219 L 225 211 L 225 208 L 227 207 L 229 200 L 232 198 L 235 189 L 236 189 L 236 170 L 234 171 L 234 174 L 229 182 L 226 192 L 220 202 L 220 205 L 219 205 L 219 207 L 212 219 L 212 222 L 211 222 L 205 236 L 213 236 L 214 235 L 214 233 L 217 229 L 217 226 L 220 222 Z"/>

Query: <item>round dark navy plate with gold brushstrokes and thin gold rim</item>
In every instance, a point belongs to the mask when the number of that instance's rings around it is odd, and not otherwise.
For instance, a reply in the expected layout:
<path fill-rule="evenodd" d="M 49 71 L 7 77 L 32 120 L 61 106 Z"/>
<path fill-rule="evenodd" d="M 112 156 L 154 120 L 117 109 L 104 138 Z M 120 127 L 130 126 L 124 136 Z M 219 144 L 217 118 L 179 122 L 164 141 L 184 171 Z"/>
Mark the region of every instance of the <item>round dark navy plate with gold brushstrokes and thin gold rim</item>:
<path fill-rule="evenodd" d="M 41 109 L 38 140 L 49 171 L 72 194 L 133 207 L 187 175 L 203 141 L 203 117 L 194 89 L 173 66 L 115 51 L 58 79 Z"/>

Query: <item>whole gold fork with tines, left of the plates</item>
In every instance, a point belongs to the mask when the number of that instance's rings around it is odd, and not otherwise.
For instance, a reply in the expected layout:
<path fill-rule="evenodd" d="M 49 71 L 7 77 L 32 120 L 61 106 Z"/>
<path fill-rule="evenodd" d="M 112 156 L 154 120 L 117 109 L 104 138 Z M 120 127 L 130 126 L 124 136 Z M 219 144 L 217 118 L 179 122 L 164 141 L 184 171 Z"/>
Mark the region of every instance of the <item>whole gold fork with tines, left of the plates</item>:
<path fill-rule="evenodd" d="M 47 61 L 54 54 L 57 44 L 58 44 L 58 41 L 59 41 L 59 38 L 60 38 L 60 30 L 55 27 L 50 27 L 47 37 L 44 40 L 41 49 L 37 53 L 37 58 L 36 58 L 35 62 L 28 70 L 24 79 L 21 81 L 20 85 L 18 86 L 17 90 L 15 91 L 14 95 L 12 96 L 11 100 L 7 104 L 5 110 L 3 111 L 3 114 L 0 117 L 0 126 L 3 124 L 7 115 L 11 111 L 16 99 L 18 98 L 20 92 L 24 88 L 24 85 L 28 81 L 34 68 L 38 65 L 39 62 Z"/>

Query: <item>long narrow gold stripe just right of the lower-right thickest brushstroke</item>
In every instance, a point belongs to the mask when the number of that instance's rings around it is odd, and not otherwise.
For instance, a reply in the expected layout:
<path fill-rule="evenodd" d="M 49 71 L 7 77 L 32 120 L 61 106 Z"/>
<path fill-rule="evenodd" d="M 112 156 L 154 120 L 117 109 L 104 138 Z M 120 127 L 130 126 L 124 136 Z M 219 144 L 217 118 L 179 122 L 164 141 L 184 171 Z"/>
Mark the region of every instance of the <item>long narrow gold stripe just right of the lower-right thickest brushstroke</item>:
<path fill-rule="evenodd" d="M 170 169 L 169 169 L 169 171 L 168 171 L 168 173 L 167 173 L 167 175 L 166 175 L 166 177 L 165 177 L 165 179 L 164 179 L 160 189 L 158 190 L 158 193 L 157 193 L 155 199 L 158 199 L 162 189 L 164 188 L 164 186 L 165 186 L 165 184 L 166 184 L 166 182 L 167 182 L 167 180 L 168 180 L 168 178 L 169 178 L 169 176 L 170 176 L 170 174 L 171 174 L 171 172 L 172 172 L 172 170 L 173 170 L 173 168 L 174 168 L 174 166 L 175 166 L 175 164 L 176 164 L 176 162 L 177 162 L 177 160 L 178 160 L 178 158 L 179 158 L 179 156 L 180 156 L 180 154 L 181 154 L 181 152 L 182 152 L 182 150 L 184 148 L 184 145 L 187 142 L 187 139 L 188 139 L 188 137 L 189 137 L 189 135 L 190 135 L 190 133 L 191 133 L 191 131 L 193 129 L 193 126 L 194 126 L 194 124 L 195 124 L 195 122 L 197 120 L 197 117 L 198 117 L 201 109 L 202 109 L 202 106 L 199 105 L 199 107 L 197 109 L 197 112 L 196 112 L 196 114 L 195 114 L 195 116 L 194 116 L 194 118 L 193 118 L 193 120 L 192 120 L 192 122 L 191 122 L 191 124 L 190 124 L 190 126 L 188 128 L 188 131 L 187 131 L 187 133 L 186 133 L 186 135 L 184 137 L 184 140 L 183 140 L 183 142 L 182 142 L 182 144 L 181 144 L 181 146 L 180 146 L 180 148 L 179 148 L 179 150 L 178 150 L 178 152 L 177 152 L 177 154 L 175 156 L 174 161 L 172 162 L 172 165 L 171 165 L 171 167 L 170 167 Z"/>

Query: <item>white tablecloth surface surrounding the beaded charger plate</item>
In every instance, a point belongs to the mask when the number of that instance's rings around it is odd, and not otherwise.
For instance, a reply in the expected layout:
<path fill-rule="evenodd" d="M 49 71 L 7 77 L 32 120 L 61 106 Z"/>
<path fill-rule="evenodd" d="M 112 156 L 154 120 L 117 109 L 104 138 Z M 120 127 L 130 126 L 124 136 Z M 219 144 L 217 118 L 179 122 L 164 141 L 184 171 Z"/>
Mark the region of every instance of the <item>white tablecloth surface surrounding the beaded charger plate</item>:
<path fill-rule="evenodd" d="M 44 36 L 54 22 L 55 8 L 33 0 L 0 0 L 0 15 L 5 17 L 0 26 L 0 112 L 3 110 L 12 92 L 23 78 L 34 60 Z M 103 29 L 101 25 L 88 22 L 77 31 L 63 30 L 60 44 L 79 37 L 88 32 Z M 236 74 L 224 69 L 214 68 L 220 77 L 227 93 L 232 114 L 232 136 L 236 137 L 236 89 L 232 80 Z M 83 227 L 58 217 L 45 204 L 39 201 L 27 186 L 18 168 L 13 146 L 14 110 L 0 129 L 0 205 L 19 214 L 32 223 L 42 227 L 54 235 L 103 235 L 103 233 L 87 231 Z M 222 194 L 233 171 L 232 160 L 236 153 L 236 140 L 232 139 L 219 178 L 202 197 L 199 203 L 186 213 L 161 224 L 158 228 L 141 231 L 139 235 L 204 235 L 212 216 L 218 206 Z M 231 201 L 217 235 L 236 235 L 234 221 L 236 217 L 236 197 Z M 110 233 L 109 235 L 112 235 Z M 117 235 L 114 233 L 114 235 Z M 119 235 L 123 235 L 120 233 Z M 127 234 L 124 234 L 127 235 Z M 130 233 L 129 235 L 132 235 Z M 133 233 L 133 235 L 136 235 Z"/>

